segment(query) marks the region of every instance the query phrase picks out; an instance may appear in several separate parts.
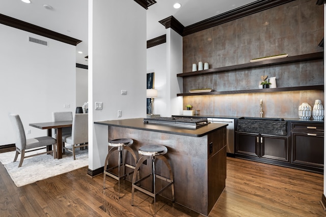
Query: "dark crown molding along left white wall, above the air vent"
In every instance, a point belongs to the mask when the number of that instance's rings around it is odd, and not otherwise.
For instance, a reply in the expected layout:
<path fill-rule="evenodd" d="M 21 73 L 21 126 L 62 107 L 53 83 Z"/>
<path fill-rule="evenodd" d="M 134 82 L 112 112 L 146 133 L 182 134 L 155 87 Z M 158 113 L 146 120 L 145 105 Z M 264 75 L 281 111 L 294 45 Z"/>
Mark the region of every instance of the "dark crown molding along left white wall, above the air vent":
<path fill-rule="evenodd" d="M 14 28 L 18 28 L 21 30 L 24 30 L 26 32 L 30 32 L 30 33 L 34 33 L 37 34 L 39 36 L 44 36 L 46 38 L 50 38 L 50 39 L 54 39 L 63 43 L 67 43 L 70 45 L 74 45 L 76 46 L 78 43 L 82 42 L 78 39 L 74 39 L 71 38 L 69 36 L 57 33 L 57 32 L 53 32 L 52 30 L 37 26 L 37 25 L 33 25 L 31 23 L 28 22 L 24 22 L 3 14 L 0 14 L 0 23 L 4 24 L 4 25 L 8 25 Z"/>

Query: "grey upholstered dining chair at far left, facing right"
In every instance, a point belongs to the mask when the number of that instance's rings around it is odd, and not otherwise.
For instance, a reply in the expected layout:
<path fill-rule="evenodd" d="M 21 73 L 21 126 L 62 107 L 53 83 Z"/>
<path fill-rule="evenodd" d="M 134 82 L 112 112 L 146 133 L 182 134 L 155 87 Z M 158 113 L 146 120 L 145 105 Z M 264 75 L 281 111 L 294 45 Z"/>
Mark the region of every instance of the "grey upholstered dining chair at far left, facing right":
<path fill-rule="evenodd" d="M 20 162 L 19 162 L 18 167 L 21 167 L 22 162 L 25 158 L 30 158 L 30 157 L 37 156 L 40 154 L 52 153 L 53 158 L 57 158 L 57 156 L 56 156 L 57 140 L 56 139 L 54 139 L 50 136 L 42 136 L 42 137 L 36 137 L 36 138 L 32 138 L 32 139 L 26 139 L 24 127 L 22 125 L 19 115 L 18 114 L 10 114 L 9 117 L 12 122 L 14 131 L 15 131 L 15 135 L 16 135 L 16 143 L 15 143 L 16 154 L 15 154 L 14 162 L 16 162 L 16 160 L 18 158 L 18 154 L 20 153 Z M 25 153 L 27 153 L 27 152 L 41 150 L 43 148 L 46 148 L 46 146 L 48 146 L 48 145 L 52 145 L 52 150 L 38 152 L 35 154 L 31 154 L 29 156 L 25 156 Z M 28 150 L 28 149 L 30 149 L 30 150 Z"/>

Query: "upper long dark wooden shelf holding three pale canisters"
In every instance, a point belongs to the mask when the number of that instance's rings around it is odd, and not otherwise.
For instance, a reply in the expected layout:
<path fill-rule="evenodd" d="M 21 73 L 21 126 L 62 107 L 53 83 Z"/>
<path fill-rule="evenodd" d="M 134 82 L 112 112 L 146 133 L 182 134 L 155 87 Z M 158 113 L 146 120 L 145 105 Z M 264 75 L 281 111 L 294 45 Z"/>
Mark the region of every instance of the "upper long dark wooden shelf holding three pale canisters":
<path fill-rule="evenodd" d="M 226 66 L 226 67 L 207 69 L 207 70 L 196 71 L 196 72 L 185 72 L 185 73 L 177 74 L 177 77 L 191 77 L 191 76 L 198 76 L 198 75 L 208 75 L 208 74 L 214 74 L 214 73 L 220 73 L 220 72 L 230 72 L 230 71 L 236 71 L 236 70 L 253 69 L 253 68 L 260 68 L 260 67 L 267 67 L 267 66 L 298 63 L 298 62 L 302 62 L 302 61 L 309 61 L 309 60 L 316 60 L 316 59 L 323 59 L 323 52 L 309 53 L 309 54 L 303 54 L 303 55 L 297 55 L 297 56 L 288 56 L 288 57 L 279 58 L 279 59 L 263 60 L 263 61 L 258 61 L 255 63 Z"/>

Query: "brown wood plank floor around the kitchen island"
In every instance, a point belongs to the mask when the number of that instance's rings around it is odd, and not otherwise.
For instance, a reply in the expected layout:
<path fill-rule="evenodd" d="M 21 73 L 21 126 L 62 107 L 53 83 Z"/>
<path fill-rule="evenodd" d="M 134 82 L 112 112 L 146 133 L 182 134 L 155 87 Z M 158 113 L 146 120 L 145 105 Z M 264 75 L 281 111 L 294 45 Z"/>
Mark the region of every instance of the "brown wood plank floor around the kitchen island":
<path fill-rule="evenodd" d="M 226 189 L 209 216 L 326 216 L 320 200 L 323 175 L 227 158 Z M 153 199 L 128 181 L 91 178 L 87 167 L 17 188 L 0 164 L 0 216 L 153 216 Z M 200 195 L 198 195 L 200 200 Z M 156 216 L 203 216 L 157 198 Z"/>

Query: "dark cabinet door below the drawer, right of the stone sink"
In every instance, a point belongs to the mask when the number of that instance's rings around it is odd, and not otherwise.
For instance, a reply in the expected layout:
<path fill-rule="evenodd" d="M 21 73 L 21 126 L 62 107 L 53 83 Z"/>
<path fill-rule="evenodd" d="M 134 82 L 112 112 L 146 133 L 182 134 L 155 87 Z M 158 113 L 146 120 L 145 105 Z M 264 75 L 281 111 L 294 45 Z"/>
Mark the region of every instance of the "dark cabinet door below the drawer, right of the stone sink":
<path fill-rule="evenodd" d="M 323 168 L 324 137 L 318 134 L 292 132 L 291 163 Z"/>

